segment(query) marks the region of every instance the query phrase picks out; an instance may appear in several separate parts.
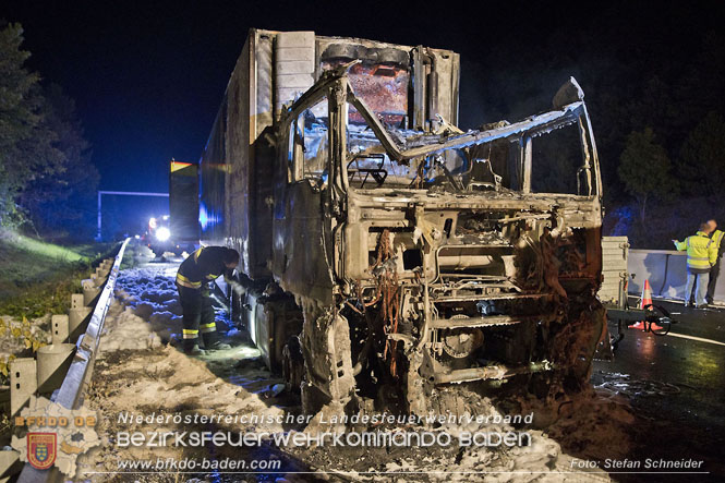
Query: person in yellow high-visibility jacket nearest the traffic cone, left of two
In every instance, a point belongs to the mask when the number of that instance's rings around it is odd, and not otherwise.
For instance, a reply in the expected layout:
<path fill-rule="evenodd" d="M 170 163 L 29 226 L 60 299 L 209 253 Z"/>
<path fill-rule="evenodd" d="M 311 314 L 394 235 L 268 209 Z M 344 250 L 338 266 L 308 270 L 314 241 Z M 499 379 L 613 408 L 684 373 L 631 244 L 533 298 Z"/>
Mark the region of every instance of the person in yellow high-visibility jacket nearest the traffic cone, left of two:
<path fill-rule="evenodd" d="M 694 306 L 704 309 L 708 306 L 705 294 L 708 292 L 708 280 L 710 279 L 710 269 L 717 262 L 717 250 L 715 242 L 709 237 L 710 226 L 700 225 L 700 231 L 688 237 L 685 241 L 673 240 L 675 247 L 680 251 L 687 251 L 687 285 L 685 286 L 685 306 L 690 305 L 692 288 L 694 291 Z"/>

